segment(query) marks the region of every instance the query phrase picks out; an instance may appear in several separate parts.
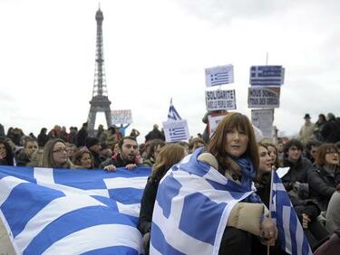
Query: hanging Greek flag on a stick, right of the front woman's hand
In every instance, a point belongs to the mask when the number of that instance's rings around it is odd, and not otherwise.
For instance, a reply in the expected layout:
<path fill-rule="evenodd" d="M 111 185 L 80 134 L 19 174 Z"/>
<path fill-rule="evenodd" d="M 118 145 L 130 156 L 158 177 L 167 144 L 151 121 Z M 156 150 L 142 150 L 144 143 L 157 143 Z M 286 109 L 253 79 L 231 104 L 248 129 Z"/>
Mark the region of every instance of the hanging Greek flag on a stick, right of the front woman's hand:
<path fill-rule="evenodd" d="M 276 171 L 273 176 L 272 219 L 277 222 L 278 238 L 282 250 L 292 255 L 312 255 L 305 233 L 298 221 L 284 185 Z"/>

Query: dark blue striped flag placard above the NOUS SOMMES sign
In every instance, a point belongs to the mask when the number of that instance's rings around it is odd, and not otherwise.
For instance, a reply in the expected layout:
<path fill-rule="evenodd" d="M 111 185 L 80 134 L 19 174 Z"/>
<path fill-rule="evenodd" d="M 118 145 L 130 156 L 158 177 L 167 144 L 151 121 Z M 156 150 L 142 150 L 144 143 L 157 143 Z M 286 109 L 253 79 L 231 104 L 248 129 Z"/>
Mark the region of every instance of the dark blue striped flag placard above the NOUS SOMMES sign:
<path fill-rule="evenodd" d="M 250 67 L 252 86 L 280 87 L 284 83 L 285 69 L 281 65 L 257 65 Z"/>

